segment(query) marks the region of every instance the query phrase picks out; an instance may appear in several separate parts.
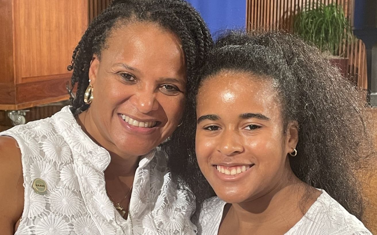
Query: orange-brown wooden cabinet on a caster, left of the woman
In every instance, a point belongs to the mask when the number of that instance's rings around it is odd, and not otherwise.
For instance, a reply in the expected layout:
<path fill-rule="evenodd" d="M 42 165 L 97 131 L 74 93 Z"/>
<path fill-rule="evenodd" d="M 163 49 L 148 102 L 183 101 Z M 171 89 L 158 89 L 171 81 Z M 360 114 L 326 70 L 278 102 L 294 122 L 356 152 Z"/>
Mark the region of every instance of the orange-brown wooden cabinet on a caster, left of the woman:
<path fill-rule="evenodd" d="M 87 23 L 88 0 L 0 0 L 0 110 L 68 99 Z"/>

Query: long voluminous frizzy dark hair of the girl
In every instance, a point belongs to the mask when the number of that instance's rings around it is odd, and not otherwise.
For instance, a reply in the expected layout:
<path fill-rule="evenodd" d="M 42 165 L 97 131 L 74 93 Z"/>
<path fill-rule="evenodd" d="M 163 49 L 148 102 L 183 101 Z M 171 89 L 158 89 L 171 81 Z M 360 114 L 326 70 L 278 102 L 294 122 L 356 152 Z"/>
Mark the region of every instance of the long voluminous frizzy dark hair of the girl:
<path fill-rule="evenodd" d="M 372 147 L 364 93 L 343 78 L 316 47 L 282 32 L 231 32 L 222 36 L 191 92 L 197 94 L 205 79 L 222 70 L 271 80 L 282 107 L 283 123 L 299 124 L 297 156 L 289 159 L 294 174 L 308 185 L 324 189 L 361 219 L 361 185 L 353 170 L 367 156 L 360 148 Z M 196 161 L 195 99 L 189 103 L 191 112 L 186 113 L 166 151 L 173 179 L 187 183 L 200 205 L 215 193 Z"/>

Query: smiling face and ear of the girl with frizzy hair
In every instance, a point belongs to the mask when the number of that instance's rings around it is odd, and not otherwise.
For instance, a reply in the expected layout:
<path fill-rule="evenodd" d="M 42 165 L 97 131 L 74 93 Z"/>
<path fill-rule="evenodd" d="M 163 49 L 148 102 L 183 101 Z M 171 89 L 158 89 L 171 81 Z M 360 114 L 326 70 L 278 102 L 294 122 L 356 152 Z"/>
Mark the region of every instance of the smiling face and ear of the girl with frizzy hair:
<path fill-rule="evenodd" d="M 271 79 L 222 71 L 205 80 L 196 107 L 196 157 L 218 197 L 254 200 L 282 188 L 297 125 L 283 127 Z"/>

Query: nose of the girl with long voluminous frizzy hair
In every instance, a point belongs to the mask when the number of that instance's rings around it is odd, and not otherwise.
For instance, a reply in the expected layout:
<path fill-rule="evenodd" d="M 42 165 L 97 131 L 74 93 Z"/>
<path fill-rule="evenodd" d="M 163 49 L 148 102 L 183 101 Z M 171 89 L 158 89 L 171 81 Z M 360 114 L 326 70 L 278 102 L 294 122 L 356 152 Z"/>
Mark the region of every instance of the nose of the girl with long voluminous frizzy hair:
<path fill-rule="evenodd" d="M 221 141 L 218 146 L 219 152 L 226 156 L 233 156 L 244 151 L 240 136 L 234 132 L 225 131 L 220 137 Z"/>

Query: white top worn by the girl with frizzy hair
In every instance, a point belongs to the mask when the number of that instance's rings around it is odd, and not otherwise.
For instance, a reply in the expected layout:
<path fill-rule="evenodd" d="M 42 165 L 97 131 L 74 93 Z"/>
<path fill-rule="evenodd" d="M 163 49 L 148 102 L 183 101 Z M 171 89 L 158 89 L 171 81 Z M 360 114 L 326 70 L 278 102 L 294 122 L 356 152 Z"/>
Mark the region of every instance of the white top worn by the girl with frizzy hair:
<path fill-rule="evenodd" d="M 351 215 L 325 190 L 307 213 L 285 235 L 372 235 L 363 223 Z M 218 197 L 207 199 L 199 214 L 198 234 L 217 235 L 226 202 Z"/>

